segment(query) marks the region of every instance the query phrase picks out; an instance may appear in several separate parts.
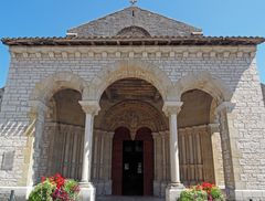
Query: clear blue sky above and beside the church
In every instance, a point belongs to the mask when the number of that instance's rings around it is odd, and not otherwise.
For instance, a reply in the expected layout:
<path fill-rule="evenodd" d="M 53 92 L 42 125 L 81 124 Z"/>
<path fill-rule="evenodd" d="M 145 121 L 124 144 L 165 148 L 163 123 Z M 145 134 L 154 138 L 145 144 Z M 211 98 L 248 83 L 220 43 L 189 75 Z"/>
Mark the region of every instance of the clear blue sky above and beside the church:
<path fill-rule="evenodd" d="M 129 0 L 1 0 L 0 38 L 64 36 L 72 27 L 128 6 Z M 138 0 L 137 6 L 201 28 L 204 35 L 265 36 L 265 0 Z M 0 87 L 9 60 L 0 44 Z M 265 83 L 265 44 L 258 46 L 257 64 Z"/>

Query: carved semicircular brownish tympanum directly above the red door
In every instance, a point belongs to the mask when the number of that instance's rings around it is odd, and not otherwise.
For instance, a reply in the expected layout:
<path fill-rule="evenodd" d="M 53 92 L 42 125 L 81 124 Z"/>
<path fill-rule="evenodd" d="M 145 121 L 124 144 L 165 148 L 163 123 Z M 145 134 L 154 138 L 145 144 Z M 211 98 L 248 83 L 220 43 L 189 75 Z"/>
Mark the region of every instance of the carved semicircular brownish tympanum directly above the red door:
<path fill-rule="evenodd" d="M 168 129 L 167 119 L 162 113 L 147 103 L 137 100 L 126 100 L 110 107 L 102 125 L 105 130 L 127 127 L 131 135 L 141 127 L 148 127 L 152 131 Z"/>

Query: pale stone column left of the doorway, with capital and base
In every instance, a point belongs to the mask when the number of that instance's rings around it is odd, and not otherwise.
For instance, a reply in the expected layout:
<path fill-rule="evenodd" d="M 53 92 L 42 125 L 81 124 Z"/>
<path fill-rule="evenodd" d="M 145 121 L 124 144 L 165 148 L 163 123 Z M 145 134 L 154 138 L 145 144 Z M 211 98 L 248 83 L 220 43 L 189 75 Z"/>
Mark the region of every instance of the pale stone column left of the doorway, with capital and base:
<path fill-rule="evenodd" d="M 83 200 L 94 201 L 95 188 L 91 183 L 93 126 L 94 126 L 94 117 L 95 115 L 98 114 L 100 107 L 97 102 L 93 102 L 93 100 L 81 100 L 80 104 L 86 114 L 81 193 L 82 193 Z"/>

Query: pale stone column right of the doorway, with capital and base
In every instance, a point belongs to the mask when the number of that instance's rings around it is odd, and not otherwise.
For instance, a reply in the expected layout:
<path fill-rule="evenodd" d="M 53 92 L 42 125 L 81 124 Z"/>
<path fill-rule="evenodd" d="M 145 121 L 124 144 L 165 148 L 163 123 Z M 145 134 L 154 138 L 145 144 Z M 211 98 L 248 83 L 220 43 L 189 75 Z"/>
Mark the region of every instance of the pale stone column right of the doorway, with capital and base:
<path fill-rule="evenodd" d="M 181 109 L 182 102 L 166 102 L 163 112 L 169 117 L 169 144 L 170 144 L 170 184 L 166 190 L 166 200 L 176 201 L 179 198 L 183 186 L 180 183 L 178 121 L 177 117 Z"/>

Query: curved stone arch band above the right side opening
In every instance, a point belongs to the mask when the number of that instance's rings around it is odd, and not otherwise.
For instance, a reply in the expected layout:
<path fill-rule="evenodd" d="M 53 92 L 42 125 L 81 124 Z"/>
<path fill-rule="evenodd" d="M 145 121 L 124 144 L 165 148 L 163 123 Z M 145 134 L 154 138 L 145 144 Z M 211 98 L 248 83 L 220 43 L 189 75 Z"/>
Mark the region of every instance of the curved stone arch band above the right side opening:
<path fill-rule="evenodd" d="M 176 84 L 174 89 L 178 99 L 190 89 L 201 89 L 210 94 L 219 104 L 229 102 L 232 97 L 232 91 L 224 85 L 220 78 L 214 77 L 209 72 L 190 73 L 181 77 Z"/>

